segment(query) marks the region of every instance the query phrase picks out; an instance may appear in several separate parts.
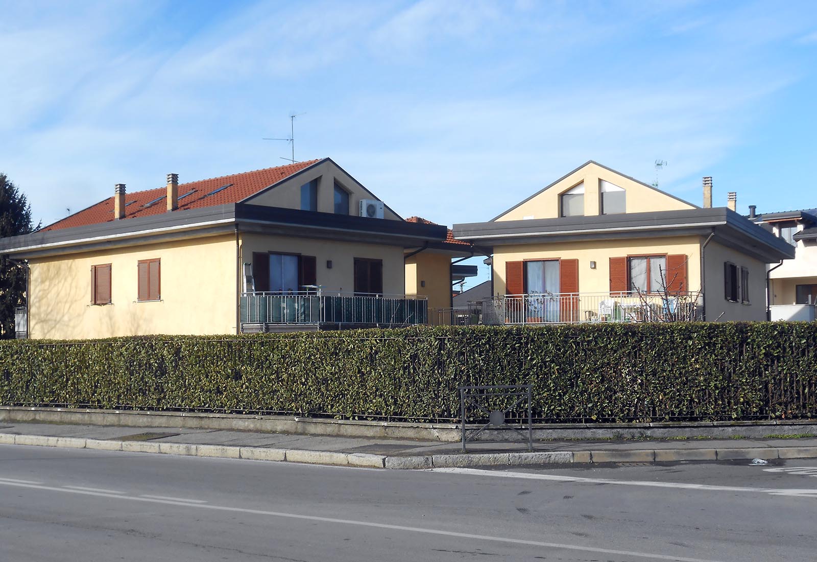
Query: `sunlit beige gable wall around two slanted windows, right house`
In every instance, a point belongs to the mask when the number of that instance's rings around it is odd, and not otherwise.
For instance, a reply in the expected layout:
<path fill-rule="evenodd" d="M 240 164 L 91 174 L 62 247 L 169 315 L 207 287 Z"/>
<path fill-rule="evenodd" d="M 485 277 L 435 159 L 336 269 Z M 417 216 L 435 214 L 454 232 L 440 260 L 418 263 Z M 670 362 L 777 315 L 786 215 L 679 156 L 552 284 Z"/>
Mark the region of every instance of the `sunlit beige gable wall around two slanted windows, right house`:
<path fill-rule="evenodd" d="M 667 194 L 654 190 L 627 176 L 610 172 L 595 163 L 589 163 L 576 172 L 565 177 L 556 185 L 536 195 L 519 207 L 499 216 L 497 221 L 519 221 L 526 217 L 534 219 L 549 219 L 559 216 L 559 196 L 584 182 L 584 214 L 595 216 L 600 214 L 600 180 L 609 181 L 627 192 L 627 212 L 676 211 L 692 209 L 693 205 L 685 203 Z"/>

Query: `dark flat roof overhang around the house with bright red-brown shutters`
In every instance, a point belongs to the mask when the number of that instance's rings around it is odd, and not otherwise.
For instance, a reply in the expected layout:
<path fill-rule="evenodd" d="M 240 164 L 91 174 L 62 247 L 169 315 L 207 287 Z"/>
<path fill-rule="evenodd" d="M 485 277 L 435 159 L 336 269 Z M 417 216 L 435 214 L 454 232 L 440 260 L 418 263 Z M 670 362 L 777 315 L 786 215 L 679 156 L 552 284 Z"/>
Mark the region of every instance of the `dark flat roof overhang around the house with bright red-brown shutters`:
<path fill-rule="evenodd" d="M 708 236 L 766 263 L 794 257 L 794 248 L 726 207 L 453 225 L 454 238 L 484 246 L 587 240 Z"/>

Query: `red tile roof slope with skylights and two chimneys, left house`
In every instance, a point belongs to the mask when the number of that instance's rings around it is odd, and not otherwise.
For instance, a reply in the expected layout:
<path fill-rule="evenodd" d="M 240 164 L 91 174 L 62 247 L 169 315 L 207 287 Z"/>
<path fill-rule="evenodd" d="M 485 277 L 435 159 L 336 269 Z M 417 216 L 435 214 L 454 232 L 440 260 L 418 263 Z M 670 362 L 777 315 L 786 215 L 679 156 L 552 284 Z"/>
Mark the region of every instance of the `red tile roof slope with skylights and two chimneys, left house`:
<path fill-rule="evenodd" d="M 232 176 L 213 177 L 209 180 L 192 181 L 179 184 L 179 207 L 176 211 L 212 207 L 225 203 L 238 203 L 250 195 L 276 184 L 296 172 L 300 172 L 320 160 L 309 160 L 286 164 L 284 166 L 268 167 L 254 172 L 243 172 Z M 212 193 L 220 187 L 228 185 L 218 193 Z M 167 212 L 167 185 L 155 190 L 135 191 L 125 195 L 125 218 L 135 216 L 159 215 Z M 155 202 L 146 206 L 148 203 Z M 174 211 L 174 212 L 176 212 Z M 114 198 L 109 197 L 96 205 L 92 205 L 71 216 L 66 216 L 42 230 L 58 230 L 73 226 L 95 225 L 114 220 Z"/>

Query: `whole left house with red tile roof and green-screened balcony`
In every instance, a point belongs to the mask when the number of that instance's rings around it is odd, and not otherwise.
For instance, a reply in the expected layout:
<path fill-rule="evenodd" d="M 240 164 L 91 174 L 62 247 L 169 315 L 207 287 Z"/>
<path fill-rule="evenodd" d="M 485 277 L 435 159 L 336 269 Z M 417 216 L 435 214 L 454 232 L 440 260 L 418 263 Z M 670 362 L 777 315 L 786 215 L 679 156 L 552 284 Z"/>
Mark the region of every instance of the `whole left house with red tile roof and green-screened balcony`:
<path fill-rule="evenodd" d="M 446 236 L 324 158 L 186 184 L 169 174 L 134 193 L 116 185 L 0 239 L 0 252 L 28 264 L 29 337 L 222 334 L 427 323 L 422 292 L 405 296 L 404 252 Z"/>

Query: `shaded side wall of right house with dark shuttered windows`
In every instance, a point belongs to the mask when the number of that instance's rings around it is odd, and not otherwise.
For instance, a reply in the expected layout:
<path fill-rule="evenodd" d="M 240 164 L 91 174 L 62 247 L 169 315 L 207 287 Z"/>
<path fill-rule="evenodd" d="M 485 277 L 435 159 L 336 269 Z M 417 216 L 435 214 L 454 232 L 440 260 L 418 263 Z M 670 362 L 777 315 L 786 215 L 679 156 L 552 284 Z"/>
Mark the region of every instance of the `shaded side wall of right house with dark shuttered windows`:
<path fill-rule="evenodd" d="M 720 243 L 709 243 L 704 251 L 704 281 L 706 283 L 707 320 L 765 320 L 766 319 L 766 264 L 734 248 Z M 731 302 L 724 295 L 724 263 L 749 268 L 749 301 L 744 305 Z"/>

